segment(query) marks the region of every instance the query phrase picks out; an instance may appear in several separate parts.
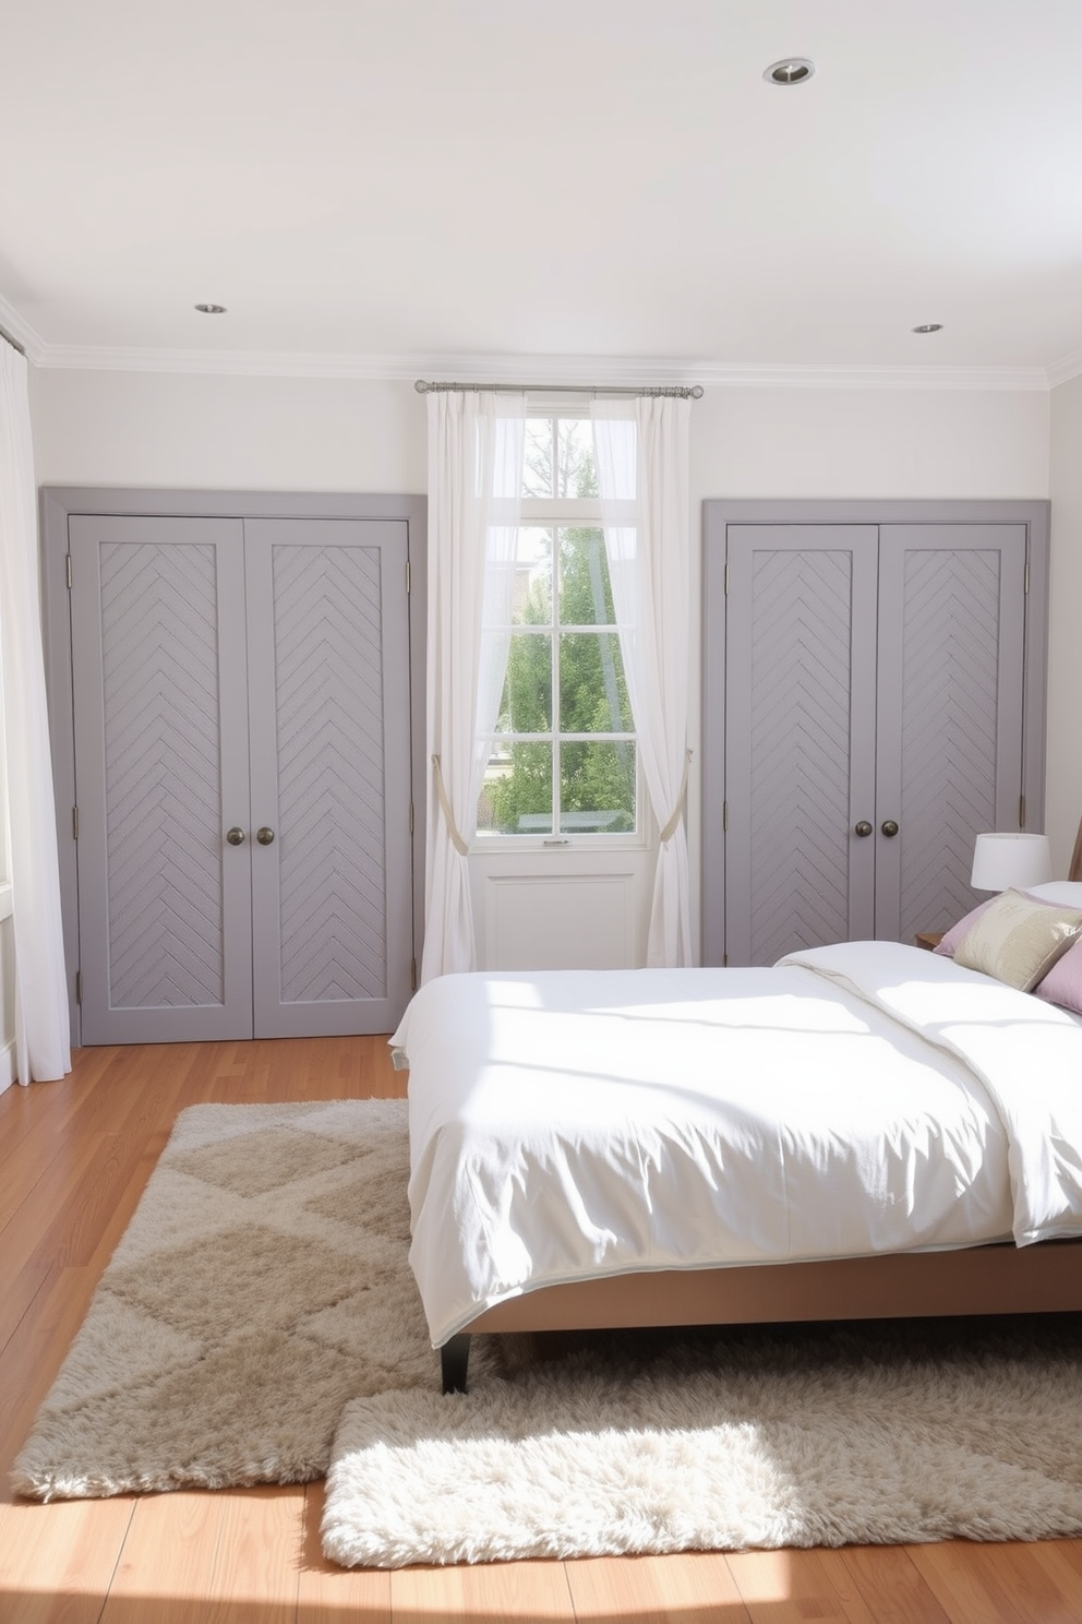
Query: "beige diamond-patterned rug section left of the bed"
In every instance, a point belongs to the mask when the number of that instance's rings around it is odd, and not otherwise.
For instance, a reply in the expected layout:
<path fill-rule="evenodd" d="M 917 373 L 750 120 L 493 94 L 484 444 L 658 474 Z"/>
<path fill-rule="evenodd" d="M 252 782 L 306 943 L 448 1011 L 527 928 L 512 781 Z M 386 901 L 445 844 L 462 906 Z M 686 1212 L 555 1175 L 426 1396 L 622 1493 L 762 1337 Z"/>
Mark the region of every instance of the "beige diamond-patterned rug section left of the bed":
<path fill-rule="evenodd" d="M 300 1483 L 326 1471 L 350 1398 L 438 1389 L 407 1177 L 401 1099 L 182 1112 L 15 1488 Z"/>

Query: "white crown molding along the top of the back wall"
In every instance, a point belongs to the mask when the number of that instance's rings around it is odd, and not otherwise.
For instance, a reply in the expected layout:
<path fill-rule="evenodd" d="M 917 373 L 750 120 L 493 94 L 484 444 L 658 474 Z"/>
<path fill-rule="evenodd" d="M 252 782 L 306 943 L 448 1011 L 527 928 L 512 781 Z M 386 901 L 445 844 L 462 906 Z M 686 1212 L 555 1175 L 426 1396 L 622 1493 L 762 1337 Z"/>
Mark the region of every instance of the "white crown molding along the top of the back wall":
<path fill-rule="evenodd" d="M 6 317 L 6 318 L 5 318 Z M 972 390 L 1048 391 L 1082 372 L 1082 351 L 1043 367 L 874 367 L 775 365 L 745 362 L 613 361 L 607 356 L 357 356 L 290 351 L 127 349 L 94 344 L 45 344 L 0 299 L 0 325 L 24 344 L 36 367 L 89 372 L 175 372 L 256 378 L 342 378 L 373 383 L 701 383 L 704 388 L 784 390 Z M 1054 375 L 1067 369 L 1063 377 Z"/>

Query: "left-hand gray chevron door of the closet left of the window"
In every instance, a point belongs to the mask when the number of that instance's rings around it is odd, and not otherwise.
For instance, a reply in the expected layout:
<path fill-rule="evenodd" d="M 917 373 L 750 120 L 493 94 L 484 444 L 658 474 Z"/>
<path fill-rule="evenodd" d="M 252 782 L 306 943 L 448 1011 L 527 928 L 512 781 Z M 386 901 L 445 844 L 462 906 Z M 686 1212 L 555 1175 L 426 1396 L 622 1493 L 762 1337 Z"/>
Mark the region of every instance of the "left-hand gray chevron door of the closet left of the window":
<path fill-rule="evenodd" d="M 70 526 L 84 1043 L 251 1033 L 237 520 Z"/>

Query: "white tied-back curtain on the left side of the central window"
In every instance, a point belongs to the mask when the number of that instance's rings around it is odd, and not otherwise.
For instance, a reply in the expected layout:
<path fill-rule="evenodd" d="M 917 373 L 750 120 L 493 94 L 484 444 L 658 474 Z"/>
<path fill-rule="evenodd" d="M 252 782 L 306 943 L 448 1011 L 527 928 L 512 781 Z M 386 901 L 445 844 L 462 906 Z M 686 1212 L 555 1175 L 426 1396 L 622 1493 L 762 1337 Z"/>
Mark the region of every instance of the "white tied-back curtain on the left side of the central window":
<path fill-rule="evenodd" d="M 524 447 L 524 395 L 428 395 L 422 981 L 477 968 L 467 853 L 508 666 Z"/>

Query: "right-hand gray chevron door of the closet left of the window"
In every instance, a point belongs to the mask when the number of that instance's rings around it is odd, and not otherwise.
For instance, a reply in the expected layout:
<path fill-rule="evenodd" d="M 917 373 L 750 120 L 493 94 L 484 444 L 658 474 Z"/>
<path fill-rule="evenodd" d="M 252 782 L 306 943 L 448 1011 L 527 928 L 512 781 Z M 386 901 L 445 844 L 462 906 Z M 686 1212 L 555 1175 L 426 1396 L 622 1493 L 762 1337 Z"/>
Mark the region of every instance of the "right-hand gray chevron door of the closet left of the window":
<path fill-rule="evenodd" d="M 409 997 L 406 557 L 402 523 L 247 525 L 263 1036 L 393 1031 Z"/>

